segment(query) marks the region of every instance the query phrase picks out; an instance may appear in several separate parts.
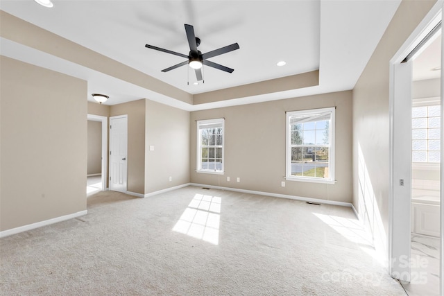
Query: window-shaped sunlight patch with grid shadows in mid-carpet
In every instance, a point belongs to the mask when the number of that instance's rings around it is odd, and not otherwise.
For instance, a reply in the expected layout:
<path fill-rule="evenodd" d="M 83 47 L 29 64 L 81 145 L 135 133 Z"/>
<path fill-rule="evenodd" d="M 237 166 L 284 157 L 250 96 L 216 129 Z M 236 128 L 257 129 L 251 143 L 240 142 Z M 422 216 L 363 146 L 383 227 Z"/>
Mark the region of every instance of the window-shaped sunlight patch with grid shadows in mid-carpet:
<path fill-rule="evenodd" d="M 173 231 L 219 245 L 221 201 L 216 196 L 194 195 Z"/>

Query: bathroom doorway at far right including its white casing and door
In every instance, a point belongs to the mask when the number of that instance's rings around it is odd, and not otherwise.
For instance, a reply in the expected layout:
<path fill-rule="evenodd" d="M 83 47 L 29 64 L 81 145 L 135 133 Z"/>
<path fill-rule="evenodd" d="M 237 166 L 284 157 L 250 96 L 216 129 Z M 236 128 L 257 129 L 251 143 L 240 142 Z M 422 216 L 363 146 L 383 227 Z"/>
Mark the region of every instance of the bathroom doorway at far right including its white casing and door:
<path fill-rule="evenodd" d="M 442 8 L 436 3 L 391 60 L 388 262 L 408 295 L 444 291 Z"/>

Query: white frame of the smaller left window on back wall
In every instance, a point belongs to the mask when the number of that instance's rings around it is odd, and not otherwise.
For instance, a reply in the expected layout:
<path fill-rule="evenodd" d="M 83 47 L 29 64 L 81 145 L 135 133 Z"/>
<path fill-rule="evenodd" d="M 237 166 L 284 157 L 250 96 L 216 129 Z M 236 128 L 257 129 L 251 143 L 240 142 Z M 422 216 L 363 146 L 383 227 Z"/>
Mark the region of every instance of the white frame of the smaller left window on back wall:
<path fill-rule="evenodd" d="M 225 147 L 225 119 L 206 119 L 206 120 L 198 120 L 196 121 L 196 125 L 197 125 L 197 130 L 196 130 L 196 135 L 197 135 L 197 157 L 196 157 L 196 172 L 197 173 L 209 173 L 209 174 L 216 174 L 216 175 L 223 175 L 224 173 L 224 162 L 225 162 L 225 157 L 224 157 L 224 147 Z M 203 169 L 202 168 L 202 139 L 201 136 L 202 134 L 200 133 L 200 130 L 202 130 L 202 128 L 200 128 L 203 125 L 212 125 L 214 127 L 221 127 L 222 128 L 222 145 L 218 145 L 218 146 L 214 146 L 216 148 L 222 148 L 222 163 L 221 163 L 221 170 L 220 171 L 216 171 L 214 170 L 209 170 L 209 169 Z"/>

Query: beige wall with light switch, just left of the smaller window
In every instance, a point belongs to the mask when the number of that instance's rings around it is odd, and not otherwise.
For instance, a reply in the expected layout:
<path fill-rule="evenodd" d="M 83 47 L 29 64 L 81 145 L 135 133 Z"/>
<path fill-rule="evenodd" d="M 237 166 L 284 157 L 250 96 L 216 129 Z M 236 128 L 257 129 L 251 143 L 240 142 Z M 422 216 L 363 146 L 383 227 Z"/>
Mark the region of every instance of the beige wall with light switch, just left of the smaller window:
<path fill-rule="evenodd" d="M 189 112 L 146 100 L 145 193 L 187 183 Z"/>

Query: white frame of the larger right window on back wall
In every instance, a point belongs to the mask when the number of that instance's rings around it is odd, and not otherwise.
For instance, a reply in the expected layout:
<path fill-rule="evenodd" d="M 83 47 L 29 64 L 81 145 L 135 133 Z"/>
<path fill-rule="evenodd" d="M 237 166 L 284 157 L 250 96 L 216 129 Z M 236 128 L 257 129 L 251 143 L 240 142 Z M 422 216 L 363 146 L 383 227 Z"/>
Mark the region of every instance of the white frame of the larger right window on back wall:
<path fill-rule="evenodd" d="M 334 179 L 334 133 L 335 133 L 335 111 L 336 107 L 327 107 L 321 109 L 312 109 L 312 110 L 300 110 L 300 111 L 291 111 L 286 112 L 286 157 L 285 157 L 285 179 L 289 181 L 300 181 L 300 182 L 314 182 L 314 183 L 327 183 L 334 184 L 336 180 Z M 323 112 L 331 112 L 330 117 L 330 131 L 329 131 L 329 159 L 328 159 L 328 168 L 329 168 L 329 177 L 321 178 L 321 177 L 306 177 L 306 176 L 294 176 L 291 175 L 291 124 L 290 119 L 291 116 L 294 115 L 310 115 L 310 114 L 318 114 Z M 318 145 L 314 145 L 318 146 Z"/>

